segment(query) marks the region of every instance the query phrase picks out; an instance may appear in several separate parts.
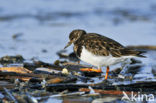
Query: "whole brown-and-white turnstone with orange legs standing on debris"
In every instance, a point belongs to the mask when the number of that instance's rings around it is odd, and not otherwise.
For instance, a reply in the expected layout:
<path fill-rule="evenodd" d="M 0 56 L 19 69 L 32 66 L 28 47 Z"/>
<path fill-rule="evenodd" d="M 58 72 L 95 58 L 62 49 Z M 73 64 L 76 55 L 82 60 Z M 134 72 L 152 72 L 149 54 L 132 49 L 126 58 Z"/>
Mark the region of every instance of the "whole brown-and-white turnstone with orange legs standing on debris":
<path fill-rule="evenodd" d="M 73 43 L 74 52 L 80 60 L 98 67 L 82 68 L 81 71 L 102 72 L 101 67 L 106 66 L 105 79 L 108 78 L 109 66 L 124 62 L 128 58 L 144 57 L 141 51 L 126 48 L 113 39 L 80 29 L 73 30 L 69 40 L 65 48 Z"/>

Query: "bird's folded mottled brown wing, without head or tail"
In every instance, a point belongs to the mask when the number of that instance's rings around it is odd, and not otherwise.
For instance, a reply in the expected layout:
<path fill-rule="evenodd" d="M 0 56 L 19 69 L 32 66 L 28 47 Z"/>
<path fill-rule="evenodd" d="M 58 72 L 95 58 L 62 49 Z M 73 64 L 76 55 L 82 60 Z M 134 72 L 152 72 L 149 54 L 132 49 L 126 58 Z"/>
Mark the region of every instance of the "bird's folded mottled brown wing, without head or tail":
<path fill-rule="evenodd" d="M 88 37 L 84 37 L 83 39 L 84 46 L 87 50 L 95 55 L 108 56 L 111 54 L 114 57 L 120 57 L 120 50 L 124 49 L 124 46 L 122 46 L 120 43 L 105 36 L 95 33 L 90 33 L 86 36 Z"/>

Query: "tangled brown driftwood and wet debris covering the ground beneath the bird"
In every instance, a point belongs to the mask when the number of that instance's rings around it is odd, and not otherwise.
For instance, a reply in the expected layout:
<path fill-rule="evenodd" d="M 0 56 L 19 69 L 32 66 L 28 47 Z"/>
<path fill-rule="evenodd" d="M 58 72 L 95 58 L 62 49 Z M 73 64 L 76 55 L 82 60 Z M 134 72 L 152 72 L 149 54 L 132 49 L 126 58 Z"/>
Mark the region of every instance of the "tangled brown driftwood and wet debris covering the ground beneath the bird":
<path fill-rule="evenodd" d="M 72 54 L 73 55 L 73 54 Z M 32 59 L 21 63 L 9 63 L 0 67 L 0 99 L 5 102 L 38 103 L 48 99 L 95 98 L 94 101 L 109 101 L 108 95 L 116 101 L 133 93 L 152 93 L 155 95 L 155 81 L 135 81 L 140 70 L 148 67 L 137 59 L 131 59 L 129 64 L 110 71 L 109 79 L 104 80 L 105 73 L 82 72 L 81 68 L 91 68 L 86 64 L 78 64 L 68 58 L 56 60 L 54 64 Z M 9 61 L 9 59 L 8 59 Z M 17 65 L 17 66 L 16 66 Z M 5 67 L 6 66 L 6 67 Z M 155 65 L 151 68 L 155 74 Z M 135 77 L 135 78 L 134 78 Z M 153 78 L 152 78 L 153 79 Z M 150 85 L 149 85 L 150 84 Z M 6 90 L 4 90 L 4 87 Z M 2 96 L 1 96 L 2 94 Z M 10 95 L 10 96 L 9 96 Z M 104 97 L 103 97 L 104 96 Z M 82 101 L 83 102 L 83 101 Z"/>

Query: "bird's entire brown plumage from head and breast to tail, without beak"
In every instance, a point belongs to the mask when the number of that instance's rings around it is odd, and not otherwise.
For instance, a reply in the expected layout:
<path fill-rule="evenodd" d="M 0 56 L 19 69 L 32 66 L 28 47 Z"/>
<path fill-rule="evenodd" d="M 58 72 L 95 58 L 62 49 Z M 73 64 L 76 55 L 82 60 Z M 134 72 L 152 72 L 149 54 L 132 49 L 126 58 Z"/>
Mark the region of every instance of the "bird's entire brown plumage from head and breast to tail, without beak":
<path fill-rule="evenodd" d="M 121 56 L 138 56 L 142 52 L 134 49 L 129 49 L 108 37 L 96 34 L 86 33 L 84 30 L 73 30 L 69 36 L 70 43 L 74 43 L 74 52 L 78 57 L 81 55 L 82 46 L 88 51 L 99 56 L 112 55 L 113 57 Z"/>

